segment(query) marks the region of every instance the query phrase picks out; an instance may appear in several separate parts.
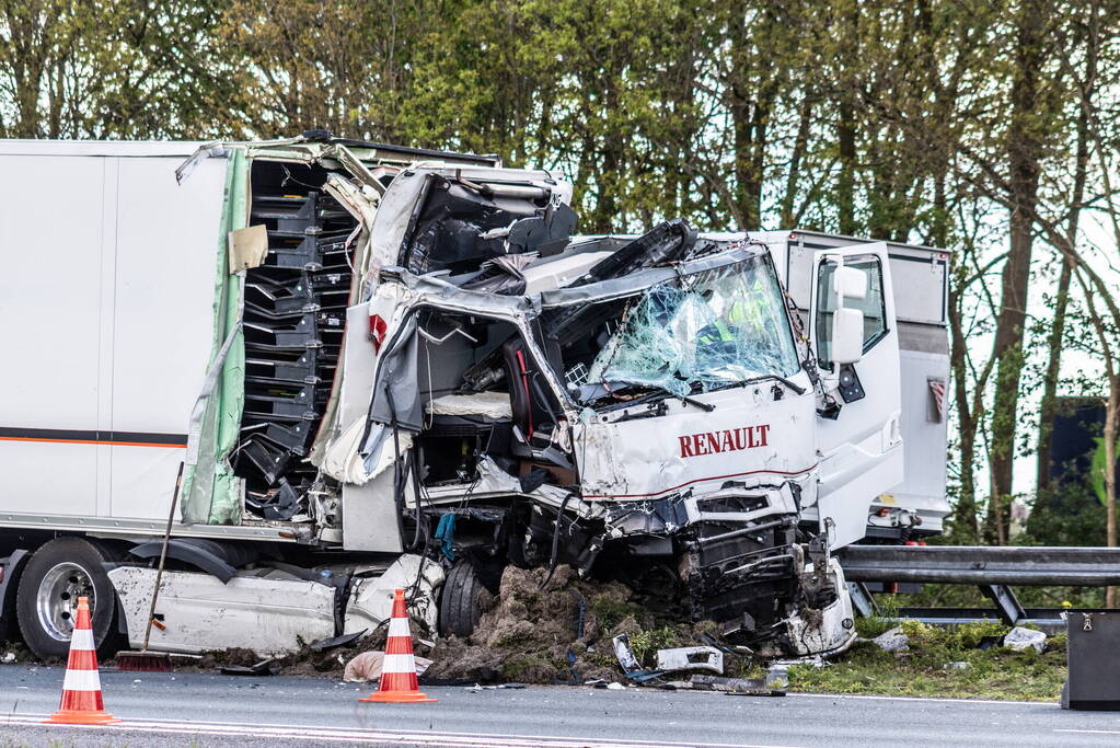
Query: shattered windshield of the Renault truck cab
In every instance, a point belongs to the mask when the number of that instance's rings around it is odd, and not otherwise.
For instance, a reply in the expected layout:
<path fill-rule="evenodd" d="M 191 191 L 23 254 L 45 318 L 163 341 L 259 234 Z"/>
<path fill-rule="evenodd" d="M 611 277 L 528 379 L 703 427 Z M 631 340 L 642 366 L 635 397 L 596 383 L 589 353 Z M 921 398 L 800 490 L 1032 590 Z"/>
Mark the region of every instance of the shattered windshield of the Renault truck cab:
<path fill-rule="evenodd" d="M 683 396 L 768 374 L 791 376 L 799 368 L 774 269 L 754 258 L 636 297 L 588 381 Z"/>

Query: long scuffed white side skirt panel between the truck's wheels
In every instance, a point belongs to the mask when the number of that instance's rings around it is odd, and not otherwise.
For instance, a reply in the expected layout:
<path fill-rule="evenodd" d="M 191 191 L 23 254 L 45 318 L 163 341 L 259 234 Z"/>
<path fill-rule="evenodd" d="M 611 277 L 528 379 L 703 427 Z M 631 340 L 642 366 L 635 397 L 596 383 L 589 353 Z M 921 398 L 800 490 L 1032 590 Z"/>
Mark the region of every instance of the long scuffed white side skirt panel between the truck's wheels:
<path fill-rule="evenodd" d="M 109 571 L 109 579 L 128 621 L 129 646 L 139 649 L 156 570 L 118 567 Z M 165 571 L 156 616 L 164 626 L 152 627 L 150 646 L 158 652 L 243 647 L 261 656 L 279 655 L 299 649 L 301 642 L 335 635 L 335 588 L 242 574 L 223 585 L 205 573 Z"/>

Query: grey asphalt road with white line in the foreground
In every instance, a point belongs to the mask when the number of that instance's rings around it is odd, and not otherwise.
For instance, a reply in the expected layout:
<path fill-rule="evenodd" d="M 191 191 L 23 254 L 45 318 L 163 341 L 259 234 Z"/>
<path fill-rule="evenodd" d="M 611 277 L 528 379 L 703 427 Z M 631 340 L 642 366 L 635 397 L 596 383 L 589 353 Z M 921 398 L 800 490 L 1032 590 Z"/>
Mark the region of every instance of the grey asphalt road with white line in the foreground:
<path fill-rule="evenodd" d="M 112 727 L 41 724 L 62 667 L 0 666 L 0 747 L 22 746 L 1116 746 L 1120 712 L 1053 703 L 627 689 L 428 688 L 433 704 L 372 704 L 328 680 L 101 674 Z"/>

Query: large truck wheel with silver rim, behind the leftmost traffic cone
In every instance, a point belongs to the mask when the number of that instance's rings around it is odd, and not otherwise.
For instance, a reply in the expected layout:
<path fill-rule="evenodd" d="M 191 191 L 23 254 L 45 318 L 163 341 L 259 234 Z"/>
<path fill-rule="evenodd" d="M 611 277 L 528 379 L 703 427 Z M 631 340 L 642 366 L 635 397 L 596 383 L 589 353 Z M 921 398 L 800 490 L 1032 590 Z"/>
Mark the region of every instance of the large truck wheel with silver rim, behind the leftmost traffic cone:
<path fill-rule="evenodd" d="M 67 656 L 78 597 L 90 598 L 99 655 L 113 654 L 116 592 L 101 565 L 111 560 L 109 550 L 83 537 L 56 537 L 31 554 L 19 579 L 16 617 L 24 642 L 36 656 Z"/>

